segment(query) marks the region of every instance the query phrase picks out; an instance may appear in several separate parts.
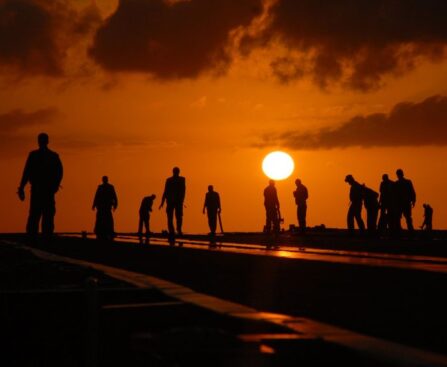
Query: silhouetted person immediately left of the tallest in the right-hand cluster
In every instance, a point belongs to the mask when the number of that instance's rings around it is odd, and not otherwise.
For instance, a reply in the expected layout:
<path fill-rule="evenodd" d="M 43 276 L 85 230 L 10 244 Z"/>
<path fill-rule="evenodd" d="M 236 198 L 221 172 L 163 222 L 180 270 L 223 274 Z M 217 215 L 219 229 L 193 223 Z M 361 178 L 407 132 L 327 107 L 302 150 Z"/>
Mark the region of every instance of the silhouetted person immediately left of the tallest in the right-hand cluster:
<path fill-rule="evenodd" d="M 384 232 L 386 230 L 393 231 L 396 229 L 396 194 L 394 181 L 391 181 L 388 175 L 385 173 L 382 175 L 382 182 L 380 183 L 380 218 L 379 218 L 379 231 Z"/>

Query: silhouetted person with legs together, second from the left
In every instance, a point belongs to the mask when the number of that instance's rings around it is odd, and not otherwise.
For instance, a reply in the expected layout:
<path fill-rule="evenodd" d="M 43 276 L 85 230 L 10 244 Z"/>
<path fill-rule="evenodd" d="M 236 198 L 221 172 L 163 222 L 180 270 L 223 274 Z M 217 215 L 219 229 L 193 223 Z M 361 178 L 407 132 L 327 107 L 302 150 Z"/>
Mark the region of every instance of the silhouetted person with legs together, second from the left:
<path fill-rule="evenodd" d="M 115 237 L 112 209 L 116 210 L 117 207 L 115 188 L 109 184 L 109 178 L 103 176 L 92 206 L 92 210 L 96 209 L 95 233 L 98 239 L 112 240 Z"/>

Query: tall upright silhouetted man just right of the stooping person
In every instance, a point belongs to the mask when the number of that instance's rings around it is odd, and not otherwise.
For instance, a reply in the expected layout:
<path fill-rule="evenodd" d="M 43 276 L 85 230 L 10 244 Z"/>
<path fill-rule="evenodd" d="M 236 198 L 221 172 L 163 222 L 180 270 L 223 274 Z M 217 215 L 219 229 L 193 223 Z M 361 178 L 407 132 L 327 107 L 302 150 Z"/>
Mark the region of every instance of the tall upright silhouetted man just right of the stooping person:
<path fill-rule="evenodd" d="M 183 201 L 185 200 L 186 184 L 185 178 L 180 176 L 180 168 L 174 167 L 172 177 L 169 177 L 165 183 L 165 191 L 159 209 L 161 209 L 166 201 L 166 214 L 168 217 L 168 230 L 172 236 L 174 231 L 174 212 L 177 221 L 177 233 L 182 235 L 183 221 Z"/>

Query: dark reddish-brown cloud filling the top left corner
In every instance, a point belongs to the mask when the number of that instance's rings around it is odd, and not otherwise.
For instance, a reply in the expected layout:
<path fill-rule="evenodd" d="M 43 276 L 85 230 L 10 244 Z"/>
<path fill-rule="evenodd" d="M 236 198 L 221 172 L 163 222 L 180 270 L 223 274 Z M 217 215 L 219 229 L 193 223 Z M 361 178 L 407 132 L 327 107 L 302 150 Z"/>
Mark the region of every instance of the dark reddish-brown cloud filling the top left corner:
<path fill-rule="evenodd" d="M 0 0 L 0 67 L 61 76 L 68 48 L 99 20 L 93 5 L 77 12 L 61 0 Z"/>

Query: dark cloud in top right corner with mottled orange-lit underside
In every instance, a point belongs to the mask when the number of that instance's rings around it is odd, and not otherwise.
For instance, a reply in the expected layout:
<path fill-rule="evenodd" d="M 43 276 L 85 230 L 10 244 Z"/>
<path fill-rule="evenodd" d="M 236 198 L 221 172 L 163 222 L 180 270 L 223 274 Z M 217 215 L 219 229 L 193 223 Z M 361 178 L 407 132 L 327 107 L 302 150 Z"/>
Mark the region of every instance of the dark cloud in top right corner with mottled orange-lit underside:
<path fill-rule="evenodd" d="M 384 76 L 411 70 L 421 56 L 443 58 L 446 19 L 445 0 L 277 0 L 265 32 L 242 46 L 245 53 L 269 43 L 285 46 L 291 56 L 281 56 L 280 68 L 272 65 L 281 81 L 310 75 L 323 88 L 341 82 L 368 90 Z"/>

